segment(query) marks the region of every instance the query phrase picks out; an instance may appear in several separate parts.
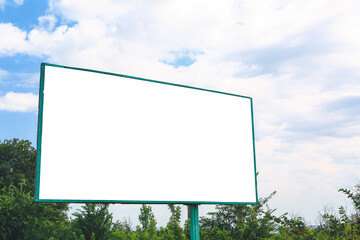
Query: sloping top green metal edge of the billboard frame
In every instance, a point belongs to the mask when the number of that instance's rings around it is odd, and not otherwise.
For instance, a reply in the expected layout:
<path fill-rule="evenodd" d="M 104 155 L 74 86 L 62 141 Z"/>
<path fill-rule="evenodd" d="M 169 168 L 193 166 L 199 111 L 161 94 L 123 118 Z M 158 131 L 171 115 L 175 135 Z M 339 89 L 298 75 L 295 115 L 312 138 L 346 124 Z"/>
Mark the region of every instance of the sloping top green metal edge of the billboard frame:
<path fill-rule="evenodd" d="M 226 93 L 226 92 L 210 90 L 210 89 L 205 89 L 205 88 L 191 87 L 191 86 L 186 86 L 186 85 L 176 84 L 176 83 L 162 82 L 162 81 L 146 79 L 146 78 L 140 78 L 140 77 L 134 77 L 134 76 L 118 74 L 118 73 L 109 73 L 109 72 L 104 72 L 104 71 L 98 71 L 98 70 L 92 70 L 92 69 L 86 69 L 86 68 L 62 66 L 62 65 L 50 64 L 50 63 L 42 63 L 42 65 L 51 66 L 51 67 L 59 67 L 59 68 L 67 68 L 67 69 L 73 69 L 73 70 L 79 70 L 79 71 L 85 71 L 85 72 L 101 73 L 101 74 L 124 77 L 124 78 L 130 78 L 130 79 L 136 79 L 136 80 L 141 80 L 141 81 L 146 81 L 146 82 L 154 82 L 154 83 L 160 83 L 160 84 L 165 84 L 165 85 L 172 85 L 172 86 L 177 86 L 177 87 L 190 88 L 190 89 L 195 89 L 195 90 L 202 90 L 202 91 L 207 91 L 207 92 L 220 93 L 220 94 L 225 94 L 225 95 L 230 95 L 230 96 L 235 96 L 235 97 L 242 97 L 242 98 L 251 99 L 251 97 L 237 95 L 237 94 L 233 94 L 233 93 Z"/>

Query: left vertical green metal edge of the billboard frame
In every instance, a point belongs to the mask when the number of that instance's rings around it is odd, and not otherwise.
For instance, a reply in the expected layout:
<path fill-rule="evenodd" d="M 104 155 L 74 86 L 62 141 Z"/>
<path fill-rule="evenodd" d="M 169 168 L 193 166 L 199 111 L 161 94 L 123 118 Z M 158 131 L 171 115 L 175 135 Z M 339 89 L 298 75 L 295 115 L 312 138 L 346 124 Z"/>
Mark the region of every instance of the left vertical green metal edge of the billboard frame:
<path fill-rule="evenodd" d="M 37 161 L 35 174 L 35 199 L 39 199 L 40 192 L 40 166 L 41 166 L 41 136 L 42 136 L 42 121 L 43 121 L 43 105 L 44 105 L 44 79 L 45 79 L 45 65 L 40 66 L 40 86 L 39 86 L 39 105 L 38 105 L 38 132 L 37 132 Z"/>

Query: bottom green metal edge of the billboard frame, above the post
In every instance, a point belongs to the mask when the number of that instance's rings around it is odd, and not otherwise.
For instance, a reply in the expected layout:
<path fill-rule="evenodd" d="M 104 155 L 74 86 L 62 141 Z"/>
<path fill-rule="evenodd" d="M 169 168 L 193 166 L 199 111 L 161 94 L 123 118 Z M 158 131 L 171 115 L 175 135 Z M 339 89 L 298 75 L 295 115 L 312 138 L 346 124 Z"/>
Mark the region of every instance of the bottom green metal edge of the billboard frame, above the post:
<path fill-rule="evenodd" d="M 79 200 L 79 199 L 35 199 L 35 202 L 53 203 L 123 203 L 123 204 L 220 204 L 220 205 L 257 205 L 257 202 L 192 202 L 192 201 L 143 201 L 143 200 Z"/>

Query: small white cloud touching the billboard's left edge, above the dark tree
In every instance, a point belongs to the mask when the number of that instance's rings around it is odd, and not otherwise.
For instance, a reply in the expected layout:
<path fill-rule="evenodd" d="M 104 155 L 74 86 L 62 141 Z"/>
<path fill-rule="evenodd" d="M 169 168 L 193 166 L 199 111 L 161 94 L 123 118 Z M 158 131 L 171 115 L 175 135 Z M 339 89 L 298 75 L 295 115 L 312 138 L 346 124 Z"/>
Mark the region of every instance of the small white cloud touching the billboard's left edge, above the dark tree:
<path fill-rule="evenodd" d="M 33 93 L 8 92 L 0 97 L 0 111 L 33 112 L 38 107 L 38 96 Z"/>

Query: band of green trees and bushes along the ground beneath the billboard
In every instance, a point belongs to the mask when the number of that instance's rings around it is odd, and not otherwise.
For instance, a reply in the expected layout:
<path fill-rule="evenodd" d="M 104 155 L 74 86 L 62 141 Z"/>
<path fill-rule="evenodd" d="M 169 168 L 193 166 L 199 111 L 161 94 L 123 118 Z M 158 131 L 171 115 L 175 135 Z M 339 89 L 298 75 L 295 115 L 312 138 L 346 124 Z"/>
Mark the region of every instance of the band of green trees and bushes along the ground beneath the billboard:
<path fill-rule="evenodd" d="M 190 239 L 190 223 L 181 225 L 181 208 L 168 205 L 171 216 L 158 228 L 151 206 L 142 205 L 141 226 L 114 221 L 108 204 L 84 204 L 68 217 L 68 204 L 35 203 L 36 150 L 26 140 L 0 141 L 0 239 L 68 240 L 167 240 Z M 337 213 L 324 210 L 316 227 L 302 217 L 274 215 L 268 202 L 258 205 L 217 205 L 200 219 L 200 238 L 221 239 L 360 239 L 360 183 L 353 190 L 340 189 L 354 205 L 354 212 L 340 207 Z"/>

